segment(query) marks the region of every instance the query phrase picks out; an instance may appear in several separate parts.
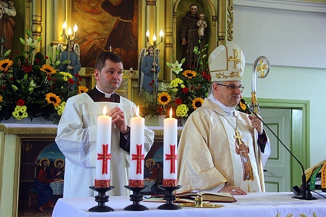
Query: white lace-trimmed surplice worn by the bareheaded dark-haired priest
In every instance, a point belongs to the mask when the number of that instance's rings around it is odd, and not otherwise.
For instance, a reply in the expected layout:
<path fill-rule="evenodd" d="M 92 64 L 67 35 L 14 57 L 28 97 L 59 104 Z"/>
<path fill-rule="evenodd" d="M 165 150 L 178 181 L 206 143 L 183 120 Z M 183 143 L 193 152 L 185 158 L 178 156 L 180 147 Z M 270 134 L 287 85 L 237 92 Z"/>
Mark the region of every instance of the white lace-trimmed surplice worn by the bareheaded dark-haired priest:
<path fill-rule="evenodd" d="M 130 118 L 135 116 L 137 109 L 133 102 L 123 97 L 120 97 L 120 103 L 94 102 L 88 94 L 83 93 L 67 101 L 56 138 L 66 157 L 64 197 L 93 197 L 98 194 L 89 187 L 94 186 L 95 179 L 97 116 L 103 114 L 104 106 L 107 107 L 107 112 L 120 107 L 127 126 L 130 126 Z M 119 140 L 120 131 L 113 124 L 110 179 L 111 186 L 115 188 L 106 193 L 110 196 L 130 195 L 124 188 L 124 185 L 128 185 L 129 153 L 119 146 Z M 145 155 L 153 140 L 154 132 L 145 127 Z"/>

